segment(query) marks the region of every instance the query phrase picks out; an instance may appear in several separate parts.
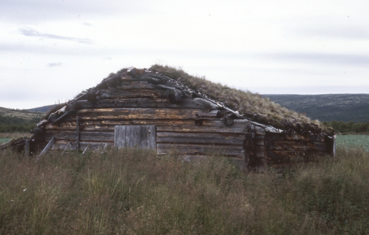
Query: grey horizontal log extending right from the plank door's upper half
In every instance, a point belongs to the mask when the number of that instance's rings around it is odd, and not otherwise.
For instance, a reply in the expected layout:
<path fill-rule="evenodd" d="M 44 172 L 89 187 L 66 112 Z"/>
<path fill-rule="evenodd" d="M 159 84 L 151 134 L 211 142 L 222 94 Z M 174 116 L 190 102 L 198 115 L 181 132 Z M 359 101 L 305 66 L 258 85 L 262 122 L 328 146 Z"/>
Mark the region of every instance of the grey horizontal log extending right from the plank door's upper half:
<path fill-rule="evenodd" d="M 243 134 L 157 132 L 157 143 L 239 145 Z"/>

